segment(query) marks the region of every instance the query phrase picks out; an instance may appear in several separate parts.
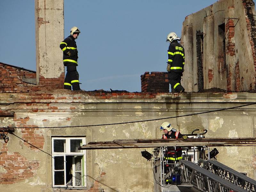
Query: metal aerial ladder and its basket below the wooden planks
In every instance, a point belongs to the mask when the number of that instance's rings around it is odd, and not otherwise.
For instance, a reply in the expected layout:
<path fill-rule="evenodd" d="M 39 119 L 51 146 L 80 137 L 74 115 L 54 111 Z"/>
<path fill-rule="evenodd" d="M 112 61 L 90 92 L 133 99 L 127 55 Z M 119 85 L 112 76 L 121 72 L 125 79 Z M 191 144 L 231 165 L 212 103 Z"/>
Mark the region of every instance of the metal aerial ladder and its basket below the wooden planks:
<path fill-rule="evenodd" d="M 205 148 L 206 150 L 209 149 L 208 147 Z M 183 151 L 186 150 L 190 150 L 190 152 L 194 150 L 195 155 L 188 152 L 188 154 L 184 155 L 184 159 L 174 163 L 168 163 L 168 160 L 164 159 L 166 147 L 154 150 L 155 192 L 188 192 L 191 190 L 204 192 L 255 192 L 256 181 L 247 177 L 244 173 L 237 172 L 213 159 L 197 159 L 198 147 L 183 149 Z"/>

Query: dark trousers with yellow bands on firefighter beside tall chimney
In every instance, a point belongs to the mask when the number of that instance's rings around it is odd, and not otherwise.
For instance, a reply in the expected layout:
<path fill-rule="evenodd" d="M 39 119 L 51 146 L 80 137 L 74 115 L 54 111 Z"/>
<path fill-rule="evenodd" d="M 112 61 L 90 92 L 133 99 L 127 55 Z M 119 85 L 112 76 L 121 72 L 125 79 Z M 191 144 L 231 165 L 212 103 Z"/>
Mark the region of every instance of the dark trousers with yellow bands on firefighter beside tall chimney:
<path fill-rule="evenodd" d="M 66 63 L 66 66 L 67 73 L 64 80 L 64 89 L 71 90 L 71 85 L 74 91 L 80 89 L 79 74 L 76 70 L 76 65 L 73 63 Z"/>

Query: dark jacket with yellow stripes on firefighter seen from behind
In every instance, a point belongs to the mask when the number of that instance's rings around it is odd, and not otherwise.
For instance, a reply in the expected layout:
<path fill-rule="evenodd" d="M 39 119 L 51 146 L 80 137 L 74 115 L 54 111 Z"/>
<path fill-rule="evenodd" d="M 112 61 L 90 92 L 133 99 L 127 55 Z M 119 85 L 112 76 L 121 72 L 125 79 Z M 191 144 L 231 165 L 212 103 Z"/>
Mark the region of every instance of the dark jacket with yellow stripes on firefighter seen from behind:
<path fill-rule="evenodd" d="M 169 45 L 168 49 L 168 64 L 171 65 L 171 71 L 182 73 L 185 64 L 184 48 L 177 40 L 174 40 Z"/>

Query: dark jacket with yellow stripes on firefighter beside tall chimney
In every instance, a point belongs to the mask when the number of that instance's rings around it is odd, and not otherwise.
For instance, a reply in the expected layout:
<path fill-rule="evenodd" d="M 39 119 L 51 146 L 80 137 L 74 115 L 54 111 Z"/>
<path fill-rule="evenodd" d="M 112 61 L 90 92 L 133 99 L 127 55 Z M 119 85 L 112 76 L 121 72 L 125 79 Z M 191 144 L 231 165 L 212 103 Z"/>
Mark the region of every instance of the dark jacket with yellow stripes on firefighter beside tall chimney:
<path fill-rule="evenodd" d="M 67 63 L 77 64 L 78 59 L 78 51 L 76 49 L 76 41 L 73 36 L 68 36 L 66 39 L 64 39 L 60 43 L 60 49 L 63 51 L 63 63 L 64 66 L 66 66 Z M 71 55 L 68 55 L 68 52 L 71 53 Z"/>

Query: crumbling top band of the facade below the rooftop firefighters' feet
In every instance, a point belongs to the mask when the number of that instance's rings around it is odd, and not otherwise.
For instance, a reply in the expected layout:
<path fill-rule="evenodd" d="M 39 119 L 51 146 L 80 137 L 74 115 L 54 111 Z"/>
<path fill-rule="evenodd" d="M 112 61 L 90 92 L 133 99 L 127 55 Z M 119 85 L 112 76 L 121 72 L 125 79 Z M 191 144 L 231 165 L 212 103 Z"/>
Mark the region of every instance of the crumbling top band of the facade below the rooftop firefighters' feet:
<path fill-rule="evenodd" d="M 195 103 L 256 102 L 256 93 L 150 93 L 150 92 L 28 92 L 0 93 L 1 104 L 11 103 Z"/>

